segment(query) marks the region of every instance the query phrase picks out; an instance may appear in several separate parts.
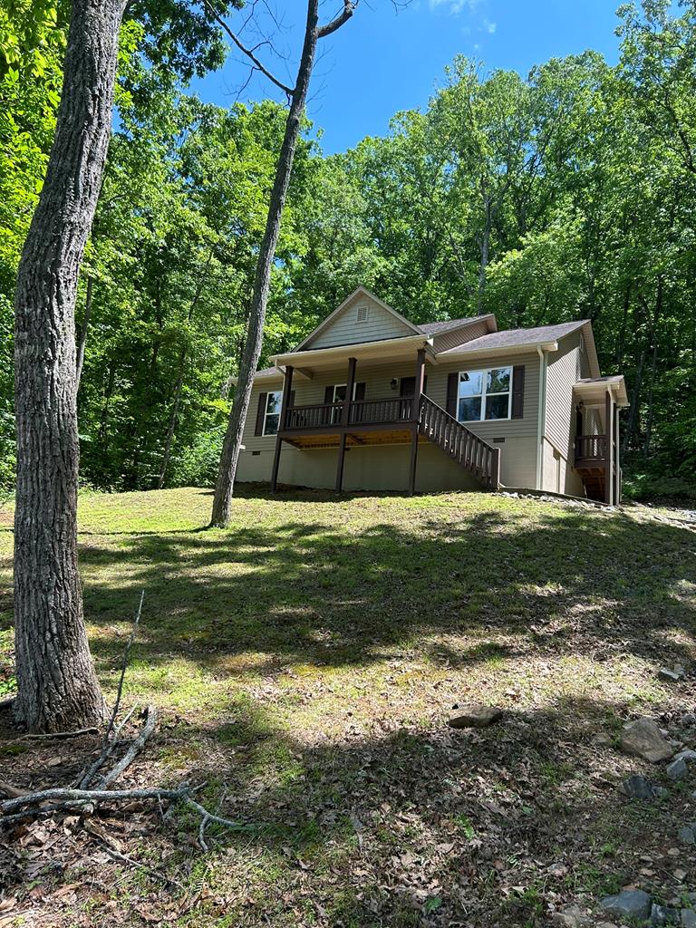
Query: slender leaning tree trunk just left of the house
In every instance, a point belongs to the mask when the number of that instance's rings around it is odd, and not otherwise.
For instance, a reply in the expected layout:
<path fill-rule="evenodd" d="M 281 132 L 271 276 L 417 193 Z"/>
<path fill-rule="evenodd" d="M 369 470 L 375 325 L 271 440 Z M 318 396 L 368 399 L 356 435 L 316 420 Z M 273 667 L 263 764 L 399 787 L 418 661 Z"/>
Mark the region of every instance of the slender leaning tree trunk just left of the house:
<path fill-rule="evenodd" d="M 256 276 L 251 297 L 251 313 L 244 351 L 239 365 L 237 390 L 229 414 L 225 442 L 220 458 L 215 496 L 213 498 L 212 526 L 225 527 L 229 522 L 232 493 L 234 490 L 235 473 L 239 458 L 239 445 L 244 431 L 244 422 L 247 418 L 253 375 L 261 355 L 264 339 L 264 320 L 268 291 L 271 284 L 271 268 L 276 254 L 280 219 L 285 205 L 285 198 L 290 185 L 292 174 L 292 161 L 295 156 L 297 139 L 300 135 L 300 125 L 304 110 L 304 101 L 307 97 L 309 79 L 312 75 L 317 41 L 317 0 L 309 0 L 307 4 L 307 24 L 304 31 L 303 54 L 297 72 L 297 83 L 292 92 L 290 112 L 285 124 L 285 135 L 280 148 L 276 178 L 271 192 L 268 207 L 264 239 L 261 243 Z"/>

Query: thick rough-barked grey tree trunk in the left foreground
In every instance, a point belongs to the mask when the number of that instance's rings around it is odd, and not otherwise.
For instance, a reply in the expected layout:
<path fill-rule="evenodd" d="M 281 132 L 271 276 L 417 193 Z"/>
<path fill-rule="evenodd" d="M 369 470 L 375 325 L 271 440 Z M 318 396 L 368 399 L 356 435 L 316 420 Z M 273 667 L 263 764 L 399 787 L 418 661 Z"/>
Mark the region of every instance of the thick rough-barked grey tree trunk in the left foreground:
<path fill-rule="evenodd" d="M 56 136 L 15 301 L 19 722 L 100 722 L 77 572 L 77 277 L 109 144 L 121 0 L 73 0 Z"/>

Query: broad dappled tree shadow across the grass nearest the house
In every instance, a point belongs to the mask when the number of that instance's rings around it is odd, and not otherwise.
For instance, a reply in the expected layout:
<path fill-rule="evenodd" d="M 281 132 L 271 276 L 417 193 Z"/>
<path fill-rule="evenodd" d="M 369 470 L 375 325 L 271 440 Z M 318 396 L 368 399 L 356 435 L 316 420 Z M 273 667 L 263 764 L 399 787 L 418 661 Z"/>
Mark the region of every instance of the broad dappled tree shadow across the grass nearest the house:
<path fill-rule="evenodd" d="M 296 521 L 90 542 L 80 553 L 85 612 L 97 625 L 122 621 L 145 588 L 139 654 L 223 668 L 243 652 L 269 665 L 368 664 L 390 649 L 422 650 L 424 636 L 443 637 L 434 660 L 466 664 L 495 655 L 458 651 L 446 637 L 486 632 L 599 659 L 665 646 L 688 656 L 666 640 L 693 632 L 696 536 L 686 529 L 574 511 L 535 522 L 456 516 L 411 509 L 400 524 Z M 121 648 L 109 637 L 94 645 L 106 664 Z"/>

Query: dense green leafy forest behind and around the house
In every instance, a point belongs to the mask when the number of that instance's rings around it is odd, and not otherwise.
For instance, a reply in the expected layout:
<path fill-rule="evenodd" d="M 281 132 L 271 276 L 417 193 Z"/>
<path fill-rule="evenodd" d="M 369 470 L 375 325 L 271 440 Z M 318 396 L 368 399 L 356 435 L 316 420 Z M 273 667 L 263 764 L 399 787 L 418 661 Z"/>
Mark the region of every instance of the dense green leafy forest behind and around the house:
<path fill-rule="evenodd" d="M 221 5 L 222 6 L 222 5 Z M 236 6 L 227 4 L 227 7 Z M 60 101 L 70 5 L 0 4 L 0 483 L 15 481 L 13 295 Z M 424 111 L 325 155 L 305 119 L 262 364 L 359 284 L 415 322 L 592 320 L 623 372 L 627 485 L 696 466 L 696 10 L 619 9 L 620 56 L 528 75 L 457 57 Z M 127 6 L 114 128 L 76 309 L 81 482 L 214 481 L 286 108 L 187 91 L 225 33 L 178 0 Z M 269 88 L 270 91 L 270 88 Z"/>

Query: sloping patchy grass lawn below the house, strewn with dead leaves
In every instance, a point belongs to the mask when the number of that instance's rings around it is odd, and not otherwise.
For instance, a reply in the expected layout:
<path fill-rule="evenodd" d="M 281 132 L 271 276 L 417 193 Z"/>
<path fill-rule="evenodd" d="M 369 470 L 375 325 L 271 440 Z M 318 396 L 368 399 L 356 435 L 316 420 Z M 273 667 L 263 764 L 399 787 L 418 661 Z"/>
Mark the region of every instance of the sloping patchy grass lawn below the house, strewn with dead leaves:
<path fill-rule="evenodd" d="M 112 698 L 145 590 L 123 700 L 156 703 L 161 727 L 123 782 L 204 782 L 244 827 L 209 831 L 203 852 L 179 810 L 103 820 L 176 885 L 114 862 L 76 821 L 14 835 L 0 925 L 492 928 L 548 924 L 628 883 L 665 901 L 696 888 L 696 854 L 674 853 L 696 782 L 615 746 L 651 715 L 696 747 L 694 676 L 657 677 L 696 654 L 689 527 L 484 494 L 242 491 L 227 531 L 205 529 L 210 507 L 198 489 L 84 495 L 84 607 Z M 460 701 L 506 714 L 448 728 Z M 8 744 L 0 779 L 63 783 L 95 749 Z M 669 795 L 628 800 L 631 772 Z"/>

